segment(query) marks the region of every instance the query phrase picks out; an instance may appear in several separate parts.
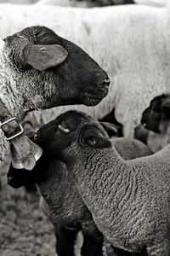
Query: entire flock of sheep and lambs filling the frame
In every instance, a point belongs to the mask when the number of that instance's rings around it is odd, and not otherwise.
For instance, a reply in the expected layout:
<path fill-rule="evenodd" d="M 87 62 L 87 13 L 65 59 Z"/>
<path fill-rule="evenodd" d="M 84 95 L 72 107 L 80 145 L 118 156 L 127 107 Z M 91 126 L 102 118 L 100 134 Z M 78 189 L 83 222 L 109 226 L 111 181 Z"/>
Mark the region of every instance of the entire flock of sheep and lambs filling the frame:
<path fill-rule="evenodd" d="M 79 231 L 83 256 L 103 246 L 170 255 L 170 1 L 162 6 L 1 4 L 0 99 L 19 121 L 31 112 L 27 141 L 43 150 L 32 171 L 11 165 L 8 184 L 37 183 L 59 256 L 75 255 Z M 124 137 L 102 121 L 113 111 Z M 133 138 L 140 123 L 147 145 Z"/>

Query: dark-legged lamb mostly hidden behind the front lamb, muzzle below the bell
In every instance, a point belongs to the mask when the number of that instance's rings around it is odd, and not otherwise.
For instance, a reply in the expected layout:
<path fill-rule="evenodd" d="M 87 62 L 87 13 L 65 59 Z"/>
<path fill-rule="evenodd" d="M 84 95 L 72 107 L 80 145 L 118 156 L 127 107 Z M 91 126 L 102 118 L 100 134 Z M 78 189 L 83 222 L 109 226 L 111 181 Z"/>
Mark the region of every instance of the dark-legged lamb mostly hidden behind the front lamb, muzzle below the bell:
<path fill-rule="evenodd" d="M 112 136 L 116 135 L 115 126 L 100 124 L 107 133 L 109 131 Z M 26 135 L 33 137 L 31 123 L 25 122 L 23 127 L 26 128 Z M 125 160 L 151 154 L 149 148 L 134 139 L 113 138 L 111 142 Z M 13 166 L 9 168 L 8 184 L 13 188 L 31 183 L 37 183 L 42 195 L 42 212 L 54 224 L 58 255 L 74 255 L 74 241 L 79 230 L 82 230 L 84 238 L 81 255 L 102 255 L 103 236 L 94 224 L 91 213 L 82 202 L 74 183 L 71 182 L 65 164 L 44 152 L 31 172 L 14 169 Z M 108 255 L 113 255 L 112 253 L 113 248 Z M 123 252 L 121 254 L 124 255 Z"/>

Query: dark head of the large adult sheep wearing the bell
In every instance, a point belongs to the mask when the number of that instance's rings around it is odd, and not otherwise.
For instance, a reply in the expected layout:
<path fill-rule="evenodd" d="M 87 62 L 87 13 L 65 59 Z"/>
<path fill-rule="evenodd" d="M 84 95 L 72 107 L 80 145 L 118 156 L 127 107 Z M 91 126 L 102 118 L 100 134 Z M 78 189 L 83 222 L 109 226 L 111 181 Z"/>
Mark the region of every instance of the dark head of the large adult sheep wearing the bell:
<path fill-rule="evenodd" d="M 27 27 L 4 41 L 17 85 L 40 98 L 37 108 L 94 106 L 107 95 L 110 79 L 105 71 L 80 47 L 47 27 Z"/>

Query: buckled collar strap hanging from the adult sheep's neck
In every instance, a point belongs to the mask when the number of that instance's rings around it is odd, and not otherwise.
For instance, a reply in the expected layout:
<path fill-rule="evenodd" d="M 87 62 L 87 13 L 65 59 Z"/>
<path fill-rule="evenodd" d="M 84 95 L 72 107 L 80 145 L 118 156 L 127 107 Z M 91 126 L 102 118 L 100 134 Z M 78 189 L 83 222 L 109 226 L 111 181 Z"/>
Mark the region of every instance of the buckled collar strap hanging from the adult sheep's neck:
<path fill-rule="evenodd" d="M 27 137 L 23 135 L 23 128 L 15 117 L 11 115 L 8 108 L 0 99 L 0 121 L 4 136 L 13 144 L 16 152 L 20 156 L 23 167 L 32 170 L 36 165 L 36 160 L 32 152 L 32 147 Z"/>

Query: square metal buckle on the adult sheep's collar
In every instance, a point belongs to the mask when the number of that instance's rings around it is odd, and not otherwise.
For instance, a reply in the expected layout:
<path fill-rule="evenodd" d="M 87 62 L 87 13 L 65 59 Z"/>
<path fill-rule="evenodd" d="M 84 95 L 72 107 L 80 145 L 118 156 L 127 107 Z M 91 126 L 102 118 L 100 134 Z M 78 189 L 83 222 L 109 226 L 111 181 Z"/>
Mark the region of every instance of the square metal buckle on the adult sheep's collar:
<path fill-rule="evenodd" d="M 14 123 L 13 125 L 16 126 L 16 131 L 14 132 L 8 132 L 7 129 L 4 129 L 5 125 L 8 125 L 10 123 Z M 8 141 L 14 139 L 14 137 L 18 137 L 20 134 L 23 133 L 23 127 L 22 125 L 20 125 L 20 123 L 17 121 L 17 119 L 14 117 L 14 118 L 11 118 L 11 119 L 8 119 L 6 121 L 4 121 L 2 124 L 1 124 L 1 128 L 4 132 L 4 136 L 6 137 L 6 139 Z"/>

